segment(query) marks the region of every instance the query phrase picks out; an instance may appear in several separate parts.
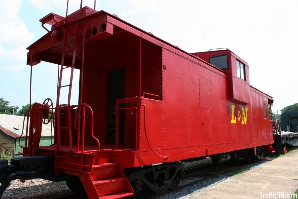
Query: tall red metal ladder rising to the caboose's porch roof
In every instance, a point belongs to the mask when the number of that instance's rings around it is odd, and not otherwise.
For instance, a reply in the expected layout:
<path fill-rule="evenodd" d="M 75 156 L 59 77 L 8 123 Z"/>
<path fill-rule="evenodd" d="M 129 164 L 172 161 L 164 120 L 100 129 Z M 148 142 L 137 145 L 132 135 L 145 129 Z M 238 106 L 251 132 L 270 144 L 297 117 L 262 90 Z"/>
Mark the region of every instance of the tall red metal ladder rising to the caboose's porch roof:
<path fill-rule="evenodd" d="M 63 34 L 64 34 L 64 40 L 63 40 L 63 47 L 62 47 L 62 56 L 61 56 L 61 65 L 60 65 L 60 73 L 59 73 L 59 82 L 57 85 L 57 99 L 56 99 L 56 131 L 57 131 L 57 149 L 61 148 L 61 130 L 64 129 L 65 133 L 68 134 L 68 142 L 69 142 L 69 150 L 72 151 L 73 150 L 73 145 L 72 145 L 72 128 L 71 128 L 71 109 L 73 108 L 71 106 L 70 100 L 71 100 L 71 91 L 72 91 L 72 83 L 73 83 L 73 74 L 74 74 L 74 66 L 75 66 L 75 61 L 76 61 L 76 54 L 77 54 L 77 47 L 79 45 L 77 45 L 78 43 L 78 31 L 79 28 L 76 28 L 75 30 L 71 30 L 71 31 L 66 31 L 64 30 Z M 75 34 L 73 35 L 73 33 L 75 32 Z M 74 42 L 73 45 L 71 45 L 71 47 L 69 47 L 67 45 L 67 41 L 68 39 L 74 37 Z M 85 37 L 83 38 L 83 43 L 85 42 Z M 84 48 L 84 45 L 83 47 Z M 72 53 L 72 61 L 71 61 L 71 65 L 70 66 L 65 66 L 65 55 L 67 53 L 71 52 Z M 65 69 L 71 69 L 71 73 L 70 73 L 70 79 L 69 79 L 69 83 L 66 85 L 61 85 L 62 84 L 62 77 L 63 77 L 63 71 Z M 60 105 L 59 104 L 59 100 L 60 100 L 60 93 L 61 93 L 61 88 L 64 87 L 68 87 L 68 100 L 67 100 L 67 104 L 64 105 Z M 61 117 L 61 110 L 65 110 L 65 126 L 61 126 L 60 124 L 60 117 Z M 67 136 L 65 136 L 67 137 Z M 66 140 L 65 140 L 66 141 Z"/>

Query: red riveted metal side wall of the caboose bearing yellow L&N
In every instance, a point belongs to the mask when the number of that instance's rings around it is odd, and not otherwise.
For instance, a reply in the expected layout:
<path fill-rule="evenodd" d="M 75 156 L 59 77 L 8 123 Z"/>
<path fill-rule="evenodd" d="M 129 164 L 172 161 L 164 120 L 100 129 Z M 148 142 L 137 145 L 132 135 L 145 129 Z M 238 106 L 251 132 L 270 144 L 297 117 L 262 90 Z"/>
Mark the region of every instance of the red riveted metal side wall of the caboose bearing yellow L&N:
<path fill-rule="evenodd" d="M 248 99 L 247 104 L 230 100 L 228 74 L 165 48 L 162 56 L 166 68 L 162 131 L 161 104 L 159 108 L 150 106 L 152 115 L 146 112 L 146 118 L 152 117 L 150 124 L 158 124 L 146 125 L 150 129 L 149 140 L 159 155 L 168 155 L 170 161 L 175 161 L 204 156 L 208 151 L 224 153 L 273 142 L 272 123 L 263 113 L 263 103 L 268 103 L 270 96 L 238 83 L 237 92 L 242 90 L 240 94 Z M 142 103 L 147 106 L 146 101 Z M 142 158 L 151 156 L 150 160 L 162 161 L 151 152 L 146 140 L 142 139 L 142 143 Z"/>

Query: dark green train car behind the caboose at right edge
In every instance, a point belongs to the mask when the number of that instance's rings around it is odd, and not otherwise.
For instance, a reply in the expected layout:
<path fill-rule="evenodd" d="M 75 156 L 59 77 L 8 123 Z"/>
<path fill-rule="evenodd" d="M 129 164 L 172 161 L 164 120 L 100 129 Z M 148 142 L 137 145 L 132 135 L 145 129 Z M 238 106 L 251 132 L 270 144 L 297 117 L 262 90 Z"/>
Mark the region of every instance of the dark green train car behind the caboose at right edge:
<path fill-rule="evenodd" d="M 281 114 L 281 131 L 298 132 L 298 111 L 286 111 Z"/>

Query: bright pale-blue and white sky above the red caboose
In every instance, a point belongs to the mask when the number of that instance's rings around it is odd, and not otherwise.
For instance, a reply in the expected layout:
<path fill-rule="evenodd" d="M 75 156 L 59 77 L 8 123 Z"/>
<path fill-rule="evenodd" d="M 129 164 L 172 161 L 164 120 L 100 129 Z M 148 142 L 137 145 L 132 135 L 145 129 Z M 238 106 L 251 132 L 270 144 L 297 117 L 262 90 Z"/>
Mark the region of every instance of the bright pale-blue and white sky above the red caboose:
<path fill-rule="evenodd" d="M 65 16 L 66 2 L 1 1 L 0 97 L 10 105 L 29 103 L 26 47 L 46 34 L 39 19 L 50 12 Z M 93 4 L 83 0 L 83 5 Z M 69 13 L 79 7 L 79 0 L 70 0 Z M 97 0 L 96 5 L 96 10 L 117 14 L 187 52 L 229 48 L 249 64 L 251 85 L 274 97 L 275 113 L 298 102 L 297 8 L 294 0 Z M 32 102 L 50 97 L 55 103 L 56 87 L 57 65 L 42 62 L 33 68 Z M 73 94 L 77 93 L 74 87 Z"/>

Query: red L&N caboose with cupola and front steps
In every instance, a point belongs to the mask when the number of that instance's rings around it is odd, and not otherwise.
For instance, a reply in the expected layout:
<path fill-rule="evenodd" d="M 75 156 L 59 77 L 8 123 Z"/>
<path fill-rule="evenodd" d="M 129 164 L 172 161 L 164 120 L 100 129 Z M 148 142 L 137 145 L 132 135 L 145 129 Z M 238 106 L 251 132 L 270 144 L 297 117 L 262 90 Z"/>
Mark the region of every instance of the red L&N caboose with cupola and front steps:
<path fill-rule="evenodd" d="M 189 54 L 89 7 L 40 21 L 52 28 L 27 48 L 27 64 L 60 65 L 56 107 L 46 99 L 28 111 L 24 157 L 4 166 L 4 182 L 66 180 L 73 191 L 82 183 L 89 198 L 122 198 L 176 186 L 180 161 L 274 151 L 273 98 L 250 86 L 248 64 L 232 51 Z M 73 72 L 62 83 L 66 68 L 80 70 L 78 105 L 70 104 Z M 41 124 L 50 120 L 54 143 L 39 147 Z"/>

